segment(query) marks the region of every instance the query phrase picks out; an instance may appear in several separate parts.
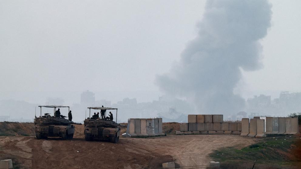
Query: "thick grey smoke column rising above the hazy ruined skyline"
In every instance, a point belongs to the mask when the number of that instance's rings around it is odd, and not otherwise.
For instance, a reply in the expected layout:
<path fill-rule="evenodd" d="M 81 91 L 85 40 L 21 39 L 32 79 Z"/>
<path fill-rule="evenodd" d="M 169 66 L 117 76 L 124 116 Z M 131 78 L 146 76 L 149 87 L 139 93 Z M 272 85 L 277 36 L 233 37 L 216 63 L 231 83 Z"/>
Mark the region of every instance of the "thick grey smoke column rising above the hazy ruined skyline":
<path fill-rule="evenodd" d="M 204 114 L 233 114 L 245 100 L 233 94 L 242 68 L 262 67 L 259 40 L 271 26 L 271 5 L 265 0 L 210 0 L 198 23 L 198 36 L 156 84 L 166 94 L 194 101 Z"/>

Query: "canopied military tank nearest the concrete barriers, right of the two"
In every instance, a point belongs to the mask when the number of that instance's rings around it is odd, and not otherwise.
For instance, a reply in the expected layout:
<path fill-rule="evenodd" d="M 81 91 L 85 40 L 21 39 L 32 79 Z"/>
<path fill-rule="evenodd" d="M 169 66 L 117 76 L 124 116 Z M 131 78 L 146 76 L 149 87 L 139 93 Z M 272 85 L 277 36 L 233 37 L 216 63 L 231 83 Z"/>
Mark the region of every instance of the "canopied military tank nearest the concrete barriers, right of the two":
<path fill-rule="evenodd" d="M 91 109 L 101 110 L 105 113 L 107 110 L 116 110 L 116 122 L 106 118 L 91 118 Z M 117 143 L 120 134 L 120 124 L 117 123 L 117 108 L 105 108 L 105 107 L 89 107 L 90 115 L 84 121 L 85 125 L 85 140 L 106 140 L 112 143 Z M 113 115 L 112 115 L 113 117 Z"/>

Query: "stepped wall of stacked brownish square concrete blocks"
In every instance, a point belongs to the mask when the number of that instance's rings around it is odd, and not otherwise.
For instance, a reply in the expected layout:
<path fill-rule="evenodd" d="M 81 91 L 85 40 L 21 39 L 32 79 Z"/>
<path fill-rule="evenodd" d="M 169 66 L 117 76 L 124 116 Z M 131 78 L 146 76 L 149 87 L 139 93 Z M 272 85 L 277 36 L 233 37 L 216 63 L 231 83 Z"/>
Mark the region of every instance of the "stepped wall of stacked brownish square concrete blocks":
<path fill-rule="evenodd" d="M 176 134 L 240 134 L 241 123 L 224 123 L 222 114 L 189 114 Z"/>

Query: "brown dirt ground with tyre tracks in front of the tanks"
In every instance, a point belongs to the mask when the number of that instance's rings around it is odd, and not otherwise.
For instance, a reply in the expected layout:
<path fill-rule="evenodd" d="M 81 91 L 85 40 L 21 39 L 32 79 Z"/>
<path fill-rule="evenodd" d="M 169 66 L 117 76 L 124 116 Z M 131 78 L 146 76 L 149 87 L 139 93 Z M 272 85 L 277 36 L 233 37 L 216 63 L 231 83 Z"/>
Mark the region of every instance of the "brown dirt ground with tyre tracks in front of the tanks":
<path fill-rule="evenodd" d="M 78 134 L 66 141 L 0 136 L 0 158 L 12 158 L 21 168 L 160 168 L 170 161 L 181 168 L 203 168 L 213 150 L 243 147 L 258 140 L 238 135 L 180 135 L 120 138 L 113 144 L 85 141 Z"/>

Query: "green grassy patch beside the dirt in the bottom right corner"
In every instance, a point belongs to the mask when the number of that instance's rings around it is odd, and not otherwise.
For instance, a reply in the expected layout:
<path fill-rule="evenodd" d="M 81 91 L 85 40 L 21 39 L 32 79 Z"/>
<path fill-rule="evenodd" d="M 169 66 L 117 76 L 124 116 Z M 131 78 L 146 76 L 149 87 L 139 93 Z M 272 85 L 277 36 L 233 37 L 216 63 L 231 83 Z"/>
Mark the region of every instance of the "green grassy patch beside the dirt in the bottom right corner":
<path fill-rule="evenodd" d="M 300 162 L 292 158 L 290 151 L 296 147 L 294 144 L 299 137 L 295 136 L 272 136 L 263 138 L 256 144 L 252 144 L 242 149 L 234 147 L 222 148 L 214 151 L 209 156 L 221 164 L 233 164 L 238 162 L 273 165 L 291 165 Z"/>

